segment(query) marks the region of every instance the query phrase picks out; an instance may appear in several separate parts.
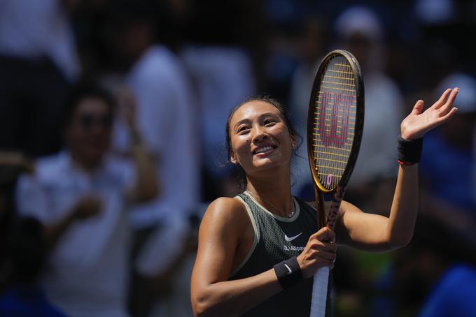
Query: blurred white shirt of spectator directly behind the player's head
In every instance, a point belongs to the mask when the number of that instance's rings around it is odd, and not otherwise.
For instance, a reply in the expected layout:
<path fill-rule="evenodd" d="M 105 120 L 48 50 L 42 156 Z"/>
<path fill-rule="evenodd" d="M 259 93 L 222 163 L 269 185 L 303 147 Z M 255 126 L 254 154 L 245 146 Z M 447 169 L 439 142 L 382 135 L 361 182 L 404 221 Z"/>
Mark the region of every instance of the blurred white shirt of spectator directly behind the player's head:
<path fill-rule="evenodd" d="M 241 47 L 225 47 L 219 43 L 190 45 L 182 50 L 181 57 L 197 86 L 202 160 L 211 184 L 218 185 L 216 193 L 211 196 L 218 196 L 229 172 L 222 166 L 228 157 L 223 122 L 235 105 L 255 91 L 251 59 Z M 207 199 L 214 199 L 211 196 Z"/>

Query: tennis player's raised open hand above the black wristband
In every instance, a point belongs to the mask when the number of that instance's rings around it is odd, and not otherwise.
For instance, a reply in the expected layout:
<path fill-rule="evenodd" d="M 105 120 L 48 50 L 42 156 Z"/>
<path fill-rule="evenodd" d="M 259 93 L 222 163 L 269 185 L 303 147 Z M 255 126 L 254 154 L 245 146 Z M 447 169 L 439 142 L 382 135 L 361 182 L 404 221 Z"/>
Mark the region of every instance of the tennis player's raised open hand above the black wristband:
<path fill-rule="evenodd" d="M 458 110 L 453 107 L 458 91 L 459 88 L 447 89 L 440 99 L 425 111 L 423 101 L 417 101 L 412 112 L 400 124 L 402 138 L 419 139 L 431 129 L 451 119 Z"/>

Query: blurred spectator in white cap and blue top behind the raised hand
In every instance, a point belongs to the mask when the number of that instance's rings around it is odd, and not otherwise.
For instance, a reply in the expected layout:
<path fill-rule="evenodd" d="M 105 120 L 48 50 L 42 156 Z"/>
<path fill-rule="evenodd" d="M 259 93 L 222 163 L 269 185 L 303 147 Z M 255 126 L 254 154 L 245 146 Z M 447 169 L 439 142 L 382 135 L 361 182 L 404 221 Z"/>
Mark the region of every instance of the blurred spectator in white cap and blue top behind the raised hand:
<path fill-rule="evenodd" d="M 437 129 L 425 138 L 421 175 L 432 196 L 468 209 L 468 212 L 476 212 L 472 200 L 476 188 L 471 179 L 475 168 L 472 146 L 476 123 L 476 80 L 465 73 L 453 73 L 440 82 L 435 96 L 449 87 L 460 88 L 454 103 L 458 113 L 449 126 Z"/>

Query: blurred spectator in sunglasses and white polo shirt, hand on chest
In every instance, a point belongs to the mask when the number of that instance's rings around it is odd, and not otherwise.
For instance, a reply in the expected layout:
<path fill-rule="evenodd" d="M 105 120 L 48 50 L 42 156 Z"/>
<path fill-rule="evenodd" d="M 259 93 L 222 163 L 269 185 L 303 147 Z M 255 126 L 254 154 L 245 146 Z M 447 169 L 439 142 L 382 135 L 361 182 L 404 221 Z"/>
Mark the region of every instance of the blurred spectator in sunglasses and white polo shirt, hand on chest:
<path fill-rule="evenodd" d="M 50 249 L 41 284 L 68 316 L 127 316 L 130 230 L 126 202 L 156 194 L 155 172 L 123 103 L 134 164 L 109 155 L 115 102 L 94 84 L 71 94 L 64 121 L 67 147 L 40 158 L 18 180 L 18 212 L 45 226 Z"/>

